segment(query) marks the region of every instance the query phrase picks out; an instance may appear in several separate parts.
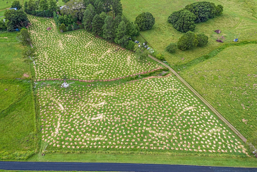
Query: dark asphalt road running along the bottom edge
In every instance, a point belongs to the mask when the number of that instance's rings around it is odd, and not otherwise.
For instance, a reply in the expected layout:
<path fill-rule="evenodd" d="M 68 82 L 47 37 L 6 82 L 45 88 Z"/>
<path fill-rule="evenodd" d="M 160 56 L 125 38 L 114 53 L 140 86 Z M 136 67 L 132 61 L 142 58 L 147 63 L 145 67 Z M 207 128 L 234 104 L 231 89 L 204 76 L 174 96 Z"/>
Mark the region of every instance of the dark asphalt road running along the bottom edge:
<path fill-rule="evenodd" d="M 256 172 L 257 168 L 210 167 L 195 165 L 82 163 L 82 162 L 8 162 L 1 170 L 30 171 L 140 171 L 140 172 Z"/>

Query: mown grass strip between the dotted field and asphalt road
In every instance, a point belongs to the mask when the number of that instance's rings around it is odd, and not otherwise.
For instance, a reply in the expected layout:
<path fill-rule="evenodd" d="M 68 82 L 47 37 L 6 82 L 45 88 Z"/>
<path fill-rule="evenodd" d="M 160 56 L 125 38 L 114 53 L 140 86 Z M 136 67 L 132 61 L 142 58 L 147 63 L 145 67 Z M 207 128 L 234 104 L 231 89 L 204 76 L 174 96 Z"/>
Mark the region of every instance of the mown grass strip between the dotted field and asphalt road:
<path fill-rule="evenodd" d="M 106 153 L 46 153 L 45 156 L 34 155 L 27 161 L 42 162 L 113 162 L 113 163 L 147 163 L 205 165 L 228 167 L 257 167 L 257 158 L 227 158 L 209 156 L 172 156 L 145 154 L 106 154 Z"/>

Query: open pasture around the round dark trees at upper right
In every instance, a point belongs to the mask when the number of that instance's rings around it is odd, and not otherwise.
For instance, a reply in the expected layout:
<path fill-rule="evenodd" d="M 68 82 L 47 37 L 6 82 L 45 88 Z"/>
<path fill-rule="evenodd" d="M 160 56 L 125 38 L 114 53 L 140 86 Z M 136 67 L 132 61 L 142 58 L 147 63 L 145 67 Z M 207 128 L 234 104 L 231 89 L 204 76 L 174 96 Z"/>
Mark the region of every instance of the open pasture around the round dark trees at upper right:
<path fill-rule="evenodd" d="M 151 30 L 140 32 L 142 36 L 153 46 L 153 48 L 165 55 L 165 60 L 171 65 L 185 64 L 189 61 L 206 54 L 221 43 L 216 42 L 216 39 L 223 35 L 224 42 L 233 42 L 234 36 L 239 36 L 241 40 L 256 40 L 257 34 L 257 19 L 256 6 L 254 0 L 239 1 L 239 0 L 219 0 L 211 1 L 216 5 L 221 4 L 224 7 L 221 16 L 209 19 L 207 22 L 196 24 L 195 33 L 204 33 L 209 37 L 207 46 L 203 48 L 195 48 L 188 51 L 177 50 L 175 54 L 170 54 L 164 51 L 165 47 L 171 43 L 176 43 L 181 32 L 175 30 L 170 23 L 167 22 L 168 16 L 176 10 L 184 8 L 187 4 L 196 1 L 145 1 L 121 0 L 123 4 L 123 15 L 134 22 L 136 16 L 142 12 L 150 12 L 155 17 L 155 24 Z M 214 31 L 220 29 L 221 34 L 216 34 Z"/>

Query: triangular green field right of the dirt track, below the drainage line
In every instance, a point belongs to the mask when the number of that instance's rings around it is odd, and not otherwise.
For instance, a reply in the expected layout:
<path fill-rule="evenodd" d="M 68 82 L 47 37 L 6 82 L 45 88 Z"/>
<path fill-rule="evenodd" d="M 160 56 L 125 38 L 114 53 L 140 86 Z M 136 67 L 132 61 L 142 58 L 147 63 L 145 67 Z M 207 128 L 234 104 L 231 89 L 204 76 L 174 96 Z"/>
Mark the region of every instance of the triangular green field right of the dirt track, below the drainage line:
<path fill-rule="evenodd" d="M 257 45 L 226 48 L 180 72 L 245 136 L 257 130 Z"/>

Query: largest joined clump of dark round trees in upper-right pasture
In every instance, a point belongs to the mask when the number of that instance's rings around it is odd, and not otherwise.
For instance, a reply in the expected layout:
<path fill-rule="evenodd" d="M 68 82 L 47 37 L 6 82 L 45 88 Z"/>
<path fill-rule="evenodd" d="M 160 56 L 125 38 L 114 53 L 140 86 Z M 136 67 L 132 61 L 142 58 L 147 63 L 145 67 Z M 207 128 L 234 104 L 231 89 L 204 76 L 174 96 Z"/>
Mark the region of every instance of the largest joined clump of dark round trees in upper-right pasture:
<path fill-rule="evenodd" d="M 212 2 L 195 2 L 185 6 L 184 9 L 174 11 L 169 17 L 168 22 L 175 29 L 181 32 L 194 31 L 196 23 L 205 22 L 223 12 L 222 5 L 215 5 Z"/>

